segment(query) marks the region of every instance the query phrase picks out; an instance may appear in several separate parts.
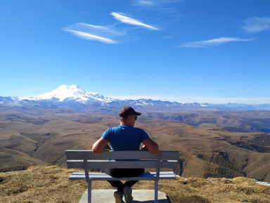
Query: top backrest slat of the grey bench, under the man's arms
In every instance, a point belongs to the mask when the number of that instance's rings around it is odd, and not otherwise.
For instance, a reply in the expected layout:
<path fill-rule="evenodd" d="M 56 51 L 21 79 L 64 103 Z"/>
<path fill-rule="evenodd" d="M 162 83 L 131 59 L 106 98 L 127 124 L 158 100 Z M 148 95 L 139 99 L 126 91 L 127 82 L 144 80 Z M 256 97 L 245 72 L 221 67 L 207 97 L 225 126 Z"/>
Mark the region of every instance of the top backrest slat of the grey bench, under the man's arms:
<path fill-rule="evenodd" d="M 91 150 L 66 150 L 67 159 L 83 159 L 83 153 L 87 159 L 158 159 L 158 155 L 147 151 L 104 151 L 100 154 L 94 154 Z M 135 153 L 130 153 L 135 152 Z M 160 151 L 161 159 L 178 159 L 178 151 Z"/>

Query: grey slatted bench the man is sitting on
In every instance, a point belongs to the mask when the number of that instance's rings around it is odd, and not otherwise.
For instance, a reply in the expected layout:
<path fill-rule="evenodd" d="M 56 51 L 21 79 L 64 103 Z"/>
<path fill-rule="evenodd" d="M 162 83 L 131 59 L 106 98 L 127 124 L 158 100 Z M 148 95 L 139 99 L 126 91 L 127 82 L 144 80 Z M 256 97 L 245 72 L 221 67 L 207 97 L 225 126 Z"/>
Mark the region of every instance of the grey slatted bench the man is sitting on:
<path fill-rule="evenodd" d="M 176 169 L 178 164 L 178 151 L 160 151 L 153 155 L 147 151 L 104 151 L 94 154 L 91 150 L 66 150 L 68 169 L 84 169 L 84 173 L 75 172 L 70 180 L 86 180 L 88 183 L 88 202 L 91 202 L 91 181 L 155 181 L 155 203 L 158 203 L 158 180 L 175 179 L 173 171 L 160 171 L 160 169 Z M 131 178 L 113 178 L 106 173 L 89 173 L 89 169 L 115 169 L 115 168 L 149 168 L 155 172 L 145 172 L 140 176 Z"/>

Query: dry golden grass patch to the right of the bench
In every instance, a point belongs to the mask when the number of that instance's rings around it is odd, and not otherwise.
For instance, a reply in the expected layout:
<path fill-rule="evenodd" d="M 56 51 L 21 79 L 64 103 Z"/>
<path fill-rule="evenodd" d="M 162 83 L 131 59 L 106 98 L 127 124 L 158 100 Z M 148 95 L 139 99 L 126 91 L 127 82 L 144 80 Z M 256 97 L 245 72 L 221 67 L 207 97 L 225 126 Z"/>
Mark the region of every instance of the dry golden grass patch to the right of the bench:
<path fill-rule="evenodd" d="M 270 187 L 249 178 L 177 178 L 160 181 L 160 190 L 171 202 L 269 203 Z"/>

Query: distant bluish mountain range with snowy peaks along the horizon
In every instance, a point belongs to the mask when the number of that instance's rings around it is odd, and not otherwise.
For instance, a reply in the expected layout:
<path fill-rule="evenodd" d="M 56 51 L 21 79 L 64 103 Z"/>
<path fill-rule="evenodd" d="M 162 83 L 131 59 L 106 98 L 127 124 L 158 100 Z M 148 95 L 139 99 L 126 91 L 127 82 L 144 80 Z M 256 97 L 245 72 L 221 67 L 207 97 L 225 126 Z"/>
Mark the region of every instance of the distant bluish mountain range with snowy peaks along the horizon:
<path fill-rule="evenodd" d="M 213 104 L 213 103 L 177 103 L 162 100 L 139 99 L 139 100 L 117 100 L 102 96 L 100 93 L 91 93 L 76 85 L 62 85 L 57 89 L 44 93 L 41 96 L 30 98 L 1 97 L 2 106 L 50 106 L 65 107 L 72 110 L 112 112 L 119 110 L 124 105 L 136 106 L 143 110 L 162 110 L 177 112 L 185 109 L 205 110 L 270 110 L 270 104 Z"/>

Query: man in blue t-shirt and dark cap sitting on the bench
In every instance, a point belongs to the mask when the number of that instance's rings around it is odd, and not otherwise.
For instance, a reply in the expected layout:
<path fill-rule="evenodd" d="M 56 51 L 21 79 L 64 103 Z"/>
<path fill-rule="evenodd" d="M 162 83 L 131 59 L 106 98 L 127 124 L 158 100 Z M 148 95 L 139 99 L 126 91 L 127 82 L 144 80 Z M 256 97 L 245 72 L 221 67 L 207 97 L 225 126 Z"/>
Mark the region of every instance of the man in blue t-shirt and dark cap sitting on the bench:
<path fill-rule="evenodd" d="M 119 113 L 120 126 L 107 129 L 100 139 L 94 143 L 93 153 L 101 153 L 108 147 L 110 143 L 110 150 L 124 151 L 124 150 L 140 150 L 140 145 L 143 143 L 142 150 L 148 150 L 150 153 L 158 154 L 160 151 L 158 144 L 150 139 L 146 131 L 135 128 L 137 116 L 141 115 L 132 107 L 123 107 Z M 144 169 L 104 169 L 104 173 L 115 178 L 134 177 L 139 176 L 144 172 Z M 115 202 L 122 203 L 122 197 L 126 203 L 132 202 L 131 187 L 138 181 L 126 181 L 124 184 L 121 181 L 108 181 L 110 185 L 117 188 L 115 191 Z"/>

